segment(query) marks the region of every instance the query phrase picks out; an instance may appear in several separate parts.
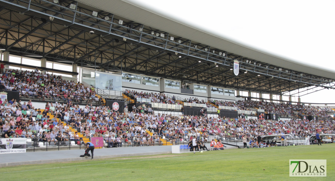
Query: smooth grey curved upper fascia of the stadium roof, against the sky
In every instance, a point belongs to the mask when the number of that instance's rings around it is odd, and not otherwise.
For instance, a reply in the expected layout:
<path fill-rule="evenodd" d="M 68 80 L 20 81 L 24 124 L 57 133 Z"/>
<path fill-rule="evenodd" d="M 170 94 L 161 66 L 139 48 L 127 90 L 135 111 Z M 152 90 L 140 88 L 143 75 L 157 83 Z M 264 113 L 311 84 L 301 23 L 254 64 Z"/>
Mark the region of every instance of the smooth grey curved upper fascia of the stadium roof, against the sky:
<path fill-rule="evenodd" d="M 195 27 L 187 22 L 177 22 L 168 15 L 159 15 L 157 10 L 150 7 L 144 7 L 141 3 L 131 4 L 127 0 L 78 0 L 84 4 L 96 7 L 108 12 L 113 12 L 127 19 L 166 31 L 196 42 L 206 44 L 208 46 L 225 50 L 240 56 L 254 60 L 258 60 L 271 65 L 276 65 L 285 69 L 293 69 L 300 72 L 309 72 L 314 75 L 329 77 L 335 79 L 335 71 L 333 69 L 318 68 L 306 63 L 300 63 L 296 60 L 282 58 L 279 55 L 271 55 L 253 47 L 247 47 L 242 42 L 229 40 L 228 37 L 220 37 L 221 35 L 203 30 L 201 27 Z M 219 17 L 218 17 L 219 18 Z M 220 19 L 220 18 L 219 18 Z"/>

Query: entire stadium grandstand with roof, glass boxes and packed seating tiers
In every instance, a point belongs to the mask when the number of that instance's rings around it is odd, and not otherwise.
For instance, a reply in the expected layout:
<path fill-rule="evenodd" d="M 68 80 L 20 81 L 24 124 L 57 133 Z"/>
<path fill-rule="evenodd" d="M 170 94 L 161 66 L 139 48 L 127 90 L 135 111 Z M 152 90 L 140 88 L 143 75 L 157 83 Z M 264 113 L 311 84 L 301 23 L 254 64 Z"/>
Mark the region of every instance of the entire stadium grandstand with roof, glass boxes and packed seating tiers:
<path fill-rule="evenodd" d="M 243 148 L 244 137 L 260 146 L 257 135 L 275 135 L 265 147 L 283 146 L 281 134 L 309 145 L 318 132 L 334 140 L 335 107 L 300 100 L 335 89 L 334 72 L 119 0 L 0 2 L 0 134 L 26 138 L 27 152 L 94 138 L 104 148 L 192 138 Z"/>

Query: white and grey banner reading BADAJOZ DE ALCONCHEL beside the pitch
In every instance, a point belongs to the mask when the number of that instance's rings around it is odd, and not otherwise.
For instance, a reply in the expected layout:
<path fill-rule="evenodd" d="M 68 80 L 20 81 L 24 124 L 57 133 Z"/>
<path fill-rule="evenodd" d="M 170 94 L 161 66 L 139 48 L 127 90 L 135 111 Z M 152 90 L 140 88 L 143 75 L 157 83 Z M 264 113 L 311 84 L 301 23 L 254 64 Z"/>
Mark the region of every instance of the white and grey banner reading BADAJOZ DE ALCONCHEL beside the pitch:
<path fill-rule="evenodd" d="M 26 138 L 1 138 L 0 154 L 2 153 L 24 153 L 26 152 Z"/>

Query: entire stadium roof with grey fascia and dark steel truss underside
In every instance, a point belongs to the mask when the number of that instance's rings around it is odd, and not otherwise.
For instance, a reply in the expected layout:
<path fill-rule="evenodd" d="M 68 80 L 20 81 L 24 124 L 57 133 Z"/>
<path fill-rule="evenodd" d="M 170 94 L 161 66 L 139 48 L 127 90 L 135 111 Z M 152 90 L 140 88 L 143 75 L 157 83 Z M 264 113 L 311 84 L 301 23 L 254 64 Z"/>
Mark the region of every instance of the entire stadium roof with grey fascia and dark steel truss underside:
<path fill-rule="evenodd" d="M 335 79 L 329 70 L 247 48 L 120 0 L 0 0 L 0 49 L 109 72 L 272 94 L 332 89 Z M 235 59 L 238 76 L 230 70 Z"/>

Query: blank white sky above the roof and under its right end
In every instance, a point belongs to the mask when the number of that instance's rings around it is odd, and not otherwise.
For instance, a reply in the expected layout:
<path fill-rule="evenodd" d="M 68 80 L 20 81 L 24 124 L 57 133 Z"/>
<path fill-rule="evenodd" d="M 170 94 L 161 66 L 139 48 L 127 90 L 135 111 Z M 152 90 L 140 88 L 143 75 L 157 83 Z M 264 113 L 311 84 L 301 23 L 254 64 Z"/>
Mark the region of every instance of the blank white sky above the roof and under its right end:
<path fill-rule="evenodd" d="M 196 29 L 335 72 L 335 1 L 124 0 Z M 301 97 L 335 103 L 335 90 Z"/>

